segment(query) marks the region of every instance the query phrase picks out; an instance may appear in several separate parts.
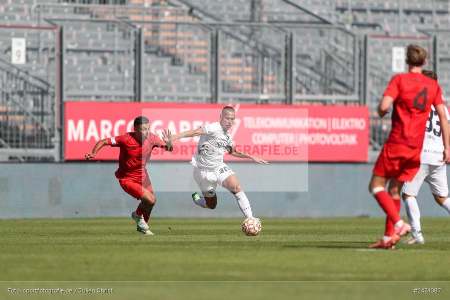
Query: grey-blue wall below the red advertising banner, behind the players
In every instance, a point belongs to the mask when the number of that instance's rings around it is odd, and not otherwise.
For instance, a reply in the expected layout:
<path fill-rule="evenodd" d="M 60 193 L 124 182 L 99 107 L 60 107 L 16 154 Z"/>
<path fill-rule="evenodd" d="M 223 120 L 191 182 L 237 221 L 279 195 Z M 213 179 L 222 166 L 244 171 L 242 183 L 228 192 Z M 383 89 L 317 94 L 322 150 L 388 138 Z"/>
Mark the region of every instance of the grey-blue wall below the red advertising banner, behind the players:
<path fill-rule="evenodd" d="M 229 166 L 256 216 L 383 216 L 367 191 L 372 164 L 272 163 L 269 167 L 235 162 Z M 0 163 L 0 218 L 129 216 L 137 201 L 120 187 L 116 169 L 117 162 Z M 195 205 L 191 192 L 198 187 L 188 162 L 151 162 L 149 173 L 157 197 L 155 217 L 242 216 L 233 195 L 220 186 L 215 210 Z M 448 215 L 435 204 L 426 183 L 418 202 L 422 216 Z"/>

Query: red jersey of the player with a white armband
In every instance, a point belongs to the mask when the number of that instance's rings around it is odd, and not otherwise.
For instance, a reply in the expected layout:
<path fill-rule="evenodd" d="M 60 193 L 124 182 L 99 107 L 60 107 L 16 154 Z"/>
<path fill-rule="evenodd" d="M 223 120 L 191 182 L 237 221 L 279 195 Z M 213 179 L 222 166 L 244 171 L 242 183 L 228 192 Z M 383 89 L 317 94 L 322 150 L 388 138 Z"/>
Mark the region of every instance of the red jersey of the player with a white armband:
<path fill-rule="evenodd" d="M 134 132 L 108 138 L 108 144 L 112 147 L 120 147 L 119 168 L 116 171 L 117 178 L 132 178 L 138 181 L 148 177 L 145 165 L 150 159 L 154 147 L 162 147 L 164 141 L 157 135 L 150 133 L 149 137 L 140 144 Z"/>

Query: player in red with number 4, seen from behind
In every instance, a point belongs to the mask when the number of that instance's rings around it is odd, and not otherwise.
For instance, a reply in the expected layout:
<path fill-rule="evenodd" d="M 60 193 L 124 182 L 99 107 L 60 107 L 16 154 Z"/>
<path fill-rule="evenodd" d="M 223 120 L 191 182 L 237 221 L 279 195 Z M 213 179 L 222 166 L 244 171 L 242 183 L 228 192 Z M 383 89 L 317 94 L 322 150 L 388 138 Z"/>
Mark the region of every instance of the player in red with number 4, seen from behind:
<path fill-rule="evenodd" d="M 394 244 L 411 231 L 411 226 L 400 215 L 400 190 L 404 181 L 411 181 L 420 167 L 423 128 L 434 104 L 442 130 L 443 163 L 448 160 L 448 121 L 445 103 L 437 81 L 422 74 L 426 52 L 417 45 L 409 45 L 406 52 L 407 73 L 393 76 L 378 106 L 383 117 L 393 104 L 392 129 L 373 168 L 369 191 L 386 213 L 383 238 L 371 248 L 393 248 Z M 384 189 L 389 181 L 388 191 Z"/>

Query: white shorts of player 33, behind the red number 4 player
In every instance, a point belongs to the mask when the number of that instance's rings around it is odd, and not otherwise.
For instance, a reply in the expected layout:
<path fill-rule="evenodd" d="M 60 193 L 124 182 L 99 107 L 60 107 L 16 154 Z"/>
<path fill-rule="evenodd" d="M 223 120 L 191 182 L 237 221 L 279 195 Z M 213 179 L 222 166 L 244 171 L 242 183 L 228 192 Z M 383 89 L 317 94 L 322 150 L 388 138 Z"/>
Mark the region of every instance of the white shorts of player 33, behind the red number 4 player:
<path fill-rule="evenodd" d="M 447 167 L 443 165 L 420 164 L 420 168 L 412 181 L 405 182 L 401 192 L 411 196 L 417 196 L 423 181 L 428 183 L 433 194 L 440 197 L 448 195 Z"/>

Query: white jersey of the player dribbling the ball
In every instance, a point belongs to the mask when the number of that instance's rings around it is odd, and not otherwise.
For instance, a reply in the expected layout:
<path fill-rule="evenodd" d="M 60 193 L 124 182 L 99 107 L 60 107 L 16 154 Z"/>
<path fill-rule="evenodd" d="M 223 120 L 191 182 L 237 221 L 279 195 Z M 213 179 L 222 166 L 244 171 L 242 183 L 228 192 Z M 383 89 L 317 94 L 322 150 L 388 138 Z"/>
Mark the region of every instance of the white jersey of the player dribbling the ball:
<path fill-rule="evenodd" d="M 233 146 L 231 134 L 225 131 L 220 122 L 202 126 L 203 135 L 191 163 L 201 169 L 215 170 L 223 164 L 223 155 L 227 147 Z"/>

